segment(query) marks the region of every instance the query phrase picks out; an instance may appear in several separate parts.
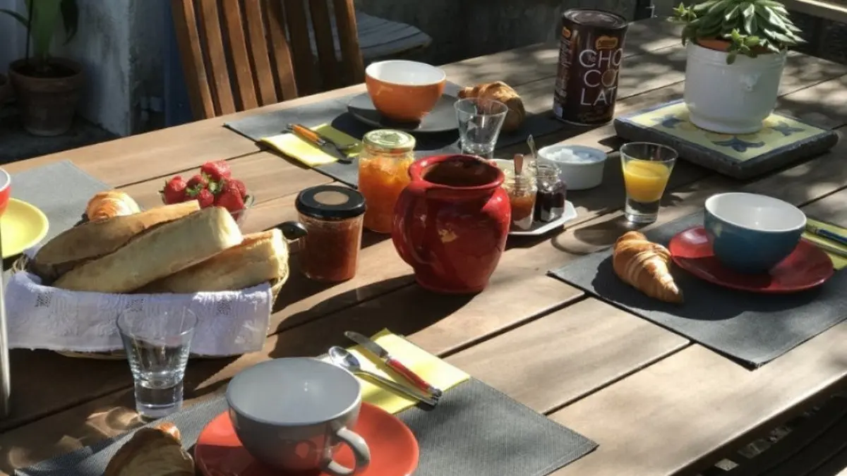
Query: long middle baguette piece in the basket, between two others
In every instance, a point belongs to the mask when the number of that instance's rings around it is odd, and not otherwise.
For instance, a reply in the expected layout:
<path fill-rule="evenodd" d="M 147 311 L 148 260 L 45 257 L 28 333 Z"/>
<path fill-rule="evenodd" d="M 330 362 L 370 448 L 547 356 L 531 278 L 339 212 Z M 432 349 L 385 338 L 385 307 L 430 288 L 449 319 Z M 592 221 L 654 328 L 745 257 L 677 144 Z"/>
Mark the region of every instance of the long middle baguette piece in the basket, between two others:
<path fill-rule="evenodd" d="M 71 291 L 130 292 L 213 257 L 242 240 L 238 224 L 226 209 L 203 208 L 71 269 L 53 285 Z"/>

